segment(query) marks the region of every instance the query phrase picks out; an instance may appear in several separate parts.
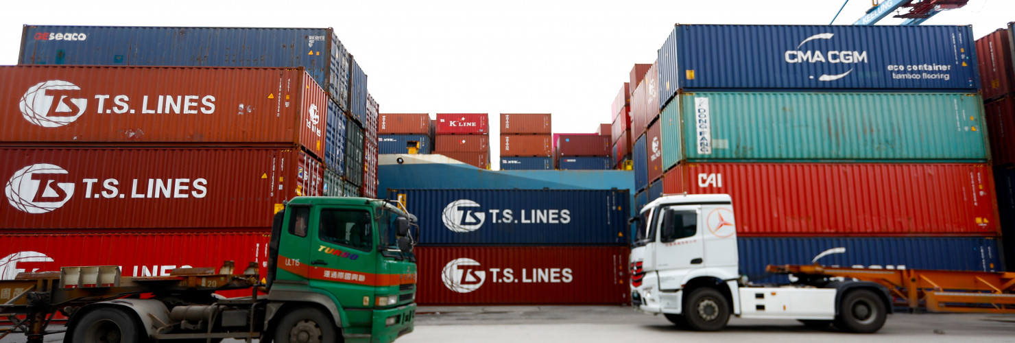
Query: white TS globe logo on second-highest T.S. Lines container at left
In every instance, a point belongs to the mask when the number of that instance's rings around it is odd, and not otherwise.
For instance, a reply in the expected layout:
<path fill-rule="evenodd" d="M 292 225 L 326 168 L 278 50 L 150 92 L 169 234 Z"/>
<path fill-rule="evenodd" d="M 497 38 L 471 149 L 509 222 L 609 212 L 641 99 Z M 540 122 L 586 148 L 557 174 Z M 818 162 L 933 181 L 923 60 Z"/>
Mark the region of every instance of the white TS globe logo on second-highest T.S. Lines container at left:
<path fill-rule="evenodd" d="M 14 208 L 28 213 L 46 213 L 60 208 L 74 195 L 74 183 L 62 183 L 67 170 L 47 163 L 31 164 L 14 173 L 4 193 Z"/>

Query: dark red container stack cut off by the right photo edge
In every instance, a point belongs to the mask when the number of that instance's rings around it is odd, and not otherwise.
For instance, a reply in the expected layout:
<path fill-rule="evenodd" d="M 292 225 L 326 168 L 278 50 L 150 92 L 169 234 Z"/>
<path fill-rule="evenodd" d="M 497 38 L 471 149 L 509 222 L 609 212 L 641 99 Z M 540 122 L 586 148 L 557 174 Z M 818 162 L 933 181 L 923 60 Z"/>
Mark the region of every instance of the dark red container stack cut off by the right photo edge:
<path fill-rule="evenodd" d="M 1015 23 L 976 40 L 1006 265 L 1015 266 Z"/>

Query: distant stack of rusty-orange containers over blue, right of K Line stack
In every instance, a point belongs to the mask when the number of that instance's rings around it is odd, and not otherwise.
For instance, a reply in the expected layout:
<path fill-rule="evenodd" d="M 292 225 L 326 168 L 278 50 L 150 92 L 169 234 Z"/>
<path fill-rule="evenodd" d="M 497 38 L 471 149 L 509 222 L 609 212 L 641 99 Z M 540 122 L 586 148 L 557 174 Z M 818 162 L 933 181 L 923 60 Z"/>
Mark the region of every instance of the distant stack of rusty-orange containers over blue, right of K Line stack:
<path fill-rule="evenodd" d="M 500 114 L 500 169 L 553 169 L 550 114 Z"/>

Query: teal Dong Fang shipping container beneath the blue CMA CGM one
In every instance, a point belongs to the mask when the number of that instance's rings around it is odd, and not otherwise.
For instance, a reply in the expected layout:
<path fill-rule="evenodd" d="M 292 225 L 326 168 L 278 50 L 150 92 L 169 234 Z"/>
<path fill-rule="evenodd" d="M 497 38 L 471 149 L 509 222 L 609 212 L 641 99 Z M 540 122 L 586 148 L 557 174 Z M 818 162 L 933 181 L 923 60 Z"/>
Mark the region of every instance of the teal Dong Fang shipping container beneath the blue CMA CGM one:
<path fill-rule="evenodd" d="M 664 109 L 664 167 L 689 160 L 986 161 L 974 93 L 696 92 Z"/>

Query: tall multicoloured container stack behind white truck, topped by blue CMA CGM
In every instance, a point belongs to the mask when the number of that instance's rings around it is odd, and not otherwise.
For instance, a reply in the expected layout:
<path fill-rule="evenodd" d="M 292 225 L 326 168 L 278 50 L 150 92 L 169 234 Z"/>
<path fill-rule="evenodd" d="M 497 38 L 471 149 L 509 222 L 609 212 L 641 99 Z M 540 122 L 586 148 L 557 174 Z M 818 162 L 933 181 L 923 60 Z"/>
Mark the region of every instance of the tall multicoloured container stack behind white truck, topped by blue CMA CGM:
<path fill-rule="evenodd" d="M 677 25 L 638 86 L 658 93 L 631 97 L 635 201 L 730 194 L 742 272 L 761 282 L 776 278 L 762 264 L 839 247 L 817 262 L 1002 270 L 971 38 L 968 26 Z"/>

